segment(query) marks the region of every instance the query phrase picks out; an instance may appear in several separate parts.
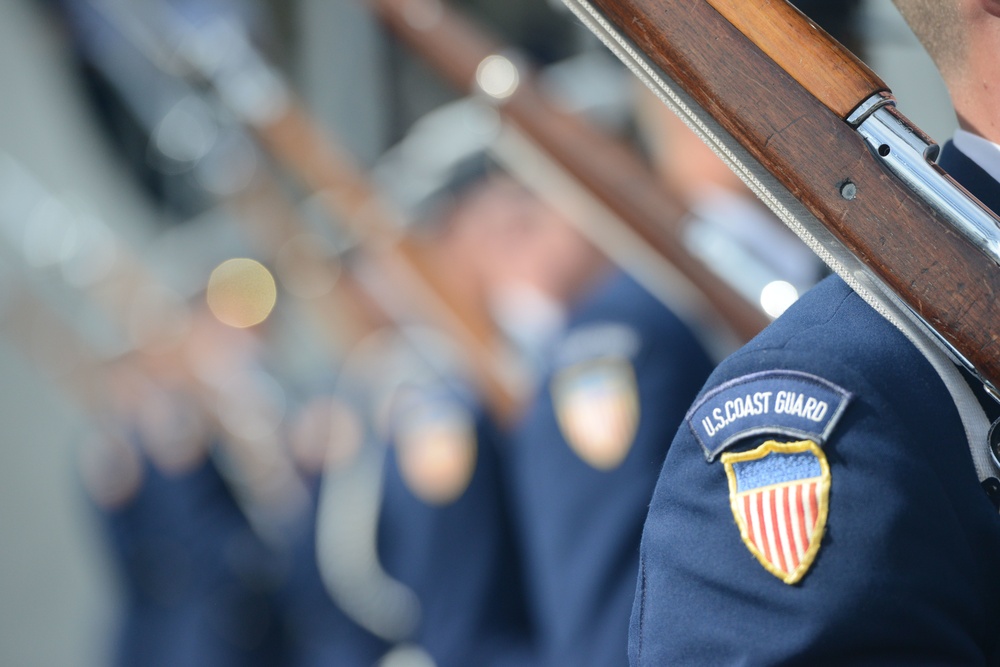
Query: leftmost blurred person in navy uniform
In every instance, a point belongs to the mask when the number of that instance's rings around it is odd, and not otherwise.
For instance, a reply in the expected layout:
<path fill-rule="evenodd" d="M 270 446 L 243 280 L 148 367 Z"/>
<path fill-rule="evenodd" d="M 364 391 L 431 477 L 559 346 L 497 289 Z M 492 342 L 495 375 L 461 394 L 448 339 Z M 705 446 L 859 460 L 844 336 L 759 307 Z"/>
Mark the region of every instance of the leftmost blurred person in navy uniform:
<path fill-rule="evenodd" d="M 233 485 L 238 464 L 224 463 L 222 439 L 232 436 L 204 378 L 192 377 L 235 379 L 256 343 L 204 312 L 191 323 L 181 345 L 136 352 L 115 369 L 109 420 L 123 439 L 83 452 L 124 584 L 114 664 L 285 664 L 276 598 L 285 555 L 247 513 Z M 211 370 L 199 365 L 206 359 Z"/>

